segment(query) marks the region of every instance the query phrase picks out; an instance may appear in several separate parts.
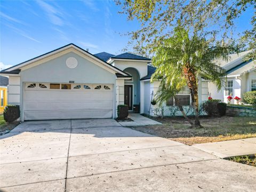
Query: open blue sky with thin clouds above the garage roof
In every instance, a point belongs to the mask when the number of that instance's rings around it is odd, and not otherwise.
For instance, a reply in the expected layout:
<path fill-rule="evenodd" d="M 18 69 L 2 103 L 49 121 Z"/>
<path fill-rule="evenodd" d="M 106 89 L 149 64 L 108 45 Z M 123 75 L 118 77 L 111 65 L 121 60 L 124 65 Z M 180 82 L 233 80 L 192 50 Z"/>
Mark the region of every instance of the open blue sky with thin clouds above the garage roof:
<path fill-rule="evenodd" d="M 121 53 L 139 29 L 114 1 L 1 1 L 0 68 L 10 67 L 74 43 L 91 53 Z M 250 13 L 237 20 L 237 31 L 250 27 Z"/>

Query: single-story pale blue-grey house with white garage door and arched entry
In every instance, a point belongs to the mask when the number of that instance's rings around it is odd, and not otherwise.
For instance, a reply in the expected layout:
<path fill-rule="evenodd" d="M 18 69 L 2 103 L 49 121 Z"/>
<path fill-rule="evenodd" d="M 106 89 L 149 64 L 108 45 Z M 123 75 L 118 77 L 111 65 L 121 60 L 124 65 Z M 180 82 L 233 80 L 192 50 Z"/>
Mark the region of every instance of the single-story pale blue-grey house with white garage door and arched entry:
<path fill-rule="evenodd" d="M 1 71 L 9 77 L 9 104 L 20 105 L 20 119 L 115 118 L 117 106 L 139 106 L 154 115 L 160 82 L 150 82 L 151 59 L 131 53 L 91 54 L 75 44 L 40 55 Z M 207 100 L 207 83 L 199 81 L 199 101 Z M 188 90 L 178 95 L 191 103 Z M 167 106 L 175 105 L 170 100 Z"/>

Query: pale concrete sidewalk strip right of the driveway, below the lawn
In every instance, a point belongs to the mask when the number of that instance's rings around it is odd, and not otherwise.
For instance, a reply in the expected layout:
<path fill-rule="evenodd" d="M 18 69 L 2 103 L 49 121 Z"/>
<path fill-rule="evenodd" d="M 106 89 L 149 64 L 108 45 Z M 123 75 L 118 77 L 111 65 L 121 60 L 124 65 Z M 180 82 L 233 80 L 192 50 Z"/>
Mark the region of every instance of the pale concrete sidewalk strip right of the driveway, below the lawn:
<path fill-rule="evenodd" d="M 220 158 L 256 154 L 256 138 L 196 144 L 193 147 Z"/>

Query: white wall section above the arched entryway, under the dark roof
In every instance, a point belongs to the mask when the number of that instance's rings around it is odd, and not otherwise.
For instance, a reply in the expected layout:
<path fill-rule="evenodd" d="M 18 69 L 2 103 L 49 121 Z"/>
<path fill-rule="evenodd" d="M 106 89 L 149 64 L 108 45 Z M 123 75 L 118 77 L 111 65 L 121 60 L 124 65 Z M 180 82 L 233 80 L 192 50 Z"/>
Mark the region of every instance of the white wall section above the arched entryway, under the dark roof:
<path fill-rule="evenodd" d="M 147 62 L 139 62 L 139 61 L 114 61 L 112 63 L 113 66 L 118 69 L 124 70 L 126 68 L 132 67 L 138 70 L 140 74 L 140 78 L 148 75 L 148 63 Z"/>

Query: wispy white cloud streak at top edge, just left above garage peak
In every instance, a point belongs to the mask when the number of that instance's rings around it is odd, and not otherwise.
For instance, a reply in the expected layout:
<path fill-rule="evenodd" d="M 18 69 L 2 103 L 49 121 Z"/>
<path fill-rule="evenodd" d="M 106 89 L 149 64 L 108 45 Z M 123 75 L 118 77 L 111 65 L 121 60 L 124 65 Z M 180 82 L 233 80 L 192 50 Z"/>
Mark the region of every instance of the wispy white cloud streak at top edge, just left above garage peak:
<path fill-rule="evenodd" d="M 52 5 L 45 3 L 44 1 L 37 1 L 38 5 L 46 12 L 50 21 L 57 26 L 63 26 L 64 22 L 61 18 L 62 13 L 55 9 Z"/>

